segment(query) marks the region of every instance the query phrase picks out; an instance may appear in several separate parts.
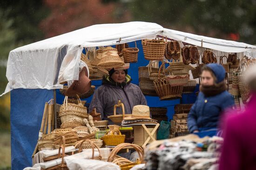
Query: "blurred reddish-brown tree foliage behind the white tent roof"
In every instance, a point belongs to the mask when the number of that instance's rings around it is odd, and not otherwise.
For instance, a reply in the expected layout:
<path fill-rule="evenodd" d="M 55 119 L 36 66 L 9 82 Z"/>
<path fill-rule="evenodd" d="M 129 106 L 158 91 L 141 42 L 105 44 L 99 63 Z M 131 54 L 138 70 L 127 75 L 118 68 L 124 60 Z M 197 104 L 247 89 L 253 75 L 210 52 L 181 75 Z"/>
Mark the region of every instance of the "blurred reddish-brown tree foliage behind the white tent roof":
<path fill-rule="evenodd" d="M 47 38 L 68 33 L 86 26 L 130 20 L 121 3 L 102 3 L 101 0 L 45 0 L 51 14 L 40 23 Z"/>

